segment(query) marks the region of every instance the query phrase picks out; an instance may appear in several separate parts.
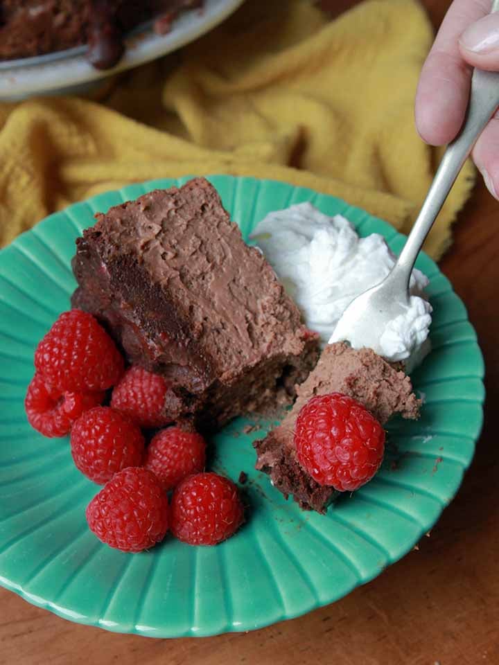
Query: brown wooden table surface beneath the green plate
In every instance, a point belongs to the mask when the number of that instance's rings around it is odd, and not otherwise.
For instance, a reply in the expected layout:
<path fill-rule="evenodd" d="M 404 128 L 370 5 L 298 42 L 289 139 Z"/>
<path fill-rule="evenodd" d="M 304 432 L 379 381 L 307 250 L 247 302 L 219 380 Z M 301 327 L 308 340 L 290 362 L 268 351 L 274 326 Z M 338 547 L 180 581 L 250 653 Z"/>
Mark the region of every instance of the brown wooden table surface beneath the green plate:
<path fill-rule="evenodd" d="M 449 1 L 424 4 L 438 24 Z M 441 269 L 468 306 L 484 352 L 484 432 L 459 494 L 417 551 L 322 610 L 246 635 L 206 639 L 114 635 L 59 619 L 0 589 L 0 664 L 498 664 L 498 238 L 499 204 L 480 183 Z"/>

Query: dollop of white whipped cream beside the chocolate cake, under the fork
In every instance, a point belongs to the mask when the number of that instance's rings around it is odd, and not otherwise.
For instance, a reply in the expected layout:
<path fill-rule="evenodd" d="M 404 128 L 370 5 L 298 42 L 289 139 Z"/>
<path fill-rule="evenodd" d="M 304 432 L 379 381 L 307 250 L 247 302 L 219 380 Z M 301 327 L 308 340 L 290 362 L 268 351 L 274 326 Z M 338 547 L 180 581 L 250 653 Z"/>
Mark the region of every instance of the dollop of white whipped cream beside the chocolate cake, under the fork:
<path fill-rule="evenodd" d="M 269 213 L 250 236 L 292 299 L 306 324 L 323 344 L 332 343 L 334 329 L 351 301 L 387 276 L 395 256 L 383 236 L 359 238 L 342 215 L 329 217 L 310 203 Z M 403 361 L 410 371 L 429 351 L 431 305 L 424 297 L 428 278 L 414 269 L 410 303 L 380 331 L 374 351 L 389 362 Z M 360 348 L 356 339 L 349 339 Z"/>

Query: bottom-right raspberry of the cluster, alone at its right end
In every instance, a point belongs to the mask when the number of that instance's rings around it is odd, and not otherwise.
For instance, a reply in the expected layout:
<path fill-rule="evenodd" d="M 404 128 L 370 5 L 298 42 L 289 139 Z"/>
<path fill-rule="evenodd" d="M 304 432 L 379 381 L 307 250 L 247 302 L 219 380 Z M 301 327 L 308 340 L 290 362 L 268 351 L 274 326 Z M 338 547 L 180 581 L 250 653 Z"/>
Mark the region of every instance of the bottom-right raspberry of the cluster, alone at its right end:
<path fill-rule="evenodd" d="M 172 533 L 191 545 L 215 545 L 237 531 L 243 520 L 236 486 L 216 473 L 189 476 L 173 493 Z"/>

